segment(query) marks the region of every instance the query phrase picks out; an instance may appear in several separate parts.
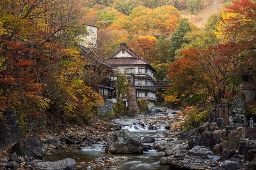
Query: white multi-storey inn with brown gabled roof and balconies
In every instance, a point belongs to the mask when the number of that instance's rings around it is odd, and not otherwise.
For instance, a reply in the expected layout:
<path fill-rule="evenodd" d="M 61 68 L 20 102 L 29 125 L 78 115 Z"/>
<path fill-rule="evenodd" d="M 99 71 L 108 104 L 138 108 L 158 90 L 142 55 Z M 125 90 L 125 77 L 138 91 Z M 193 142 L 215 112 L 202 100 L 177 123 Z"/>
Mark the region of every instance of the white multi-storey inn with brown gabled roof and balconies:
<path fill-rule="evenodd" d="M 156 80 L 154 77 L 156 69 L 150 65 L 149 61 L 144 60 L 127 47 L 126 43 L 121 43 L 120 48 L 108 56 L 107 63 L 112 65 L 116 72 L 125 74 L 128 81 L 133 82 L 137 99 L 156 101 L 156 91 L 152 89 Z M 134 74 L 133 81 L 131 81 L 131 73 Z"/>

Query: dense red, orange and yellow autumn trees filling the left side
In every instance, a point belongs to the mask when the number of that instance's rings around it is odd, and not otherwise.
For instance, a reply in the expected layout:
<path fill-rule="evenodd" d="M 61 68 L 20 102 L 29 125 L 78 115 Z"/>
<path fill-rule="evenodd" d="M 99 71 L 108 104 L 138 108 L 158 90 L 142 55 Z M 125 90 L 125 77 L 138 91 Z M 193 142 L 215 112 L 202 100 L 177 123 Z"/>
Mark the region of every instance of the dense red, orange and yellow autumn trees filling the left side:
<path fill-rule="evenodd" d="M 2 109 L 86 117 L 102 104 L 78 77 L 84 63 L 74 42 L 86 33 L 79 1 L 6 1 L 0 8 Z"/>

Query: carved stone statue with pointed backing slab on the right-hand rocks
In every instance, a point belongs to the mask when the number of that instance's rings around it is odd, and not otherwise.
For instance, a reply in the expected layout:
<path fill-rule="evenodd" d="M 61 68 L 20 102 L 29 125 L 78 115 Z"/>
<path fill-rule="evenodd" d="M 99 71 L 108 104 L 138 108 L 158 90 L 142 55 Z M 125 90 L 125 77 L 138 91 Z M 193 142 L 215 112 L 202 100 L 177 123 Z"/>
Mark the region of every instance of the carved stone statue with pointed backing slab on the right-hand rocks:
<path fill-rule="evenodd" d="M 234 127 L 248 125 L 247 119 L 244 116 L 244 103 L 240 94 L 236 95 L 236 97 L 234 98 L 230 112 L 234 121 Z"/>

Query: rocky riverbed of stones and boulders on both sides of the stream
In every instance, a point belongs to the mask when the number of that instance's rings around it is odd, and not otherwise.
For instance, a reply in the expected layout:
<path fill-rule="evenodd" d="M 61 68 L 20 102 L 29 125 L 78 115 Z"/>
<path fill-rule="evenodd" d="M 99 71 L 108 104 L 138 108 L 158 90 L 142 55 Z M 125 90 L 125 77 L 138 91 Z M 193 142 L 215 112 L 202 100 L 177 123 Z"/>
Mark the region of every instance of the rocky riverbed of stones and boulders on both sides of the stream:
<path fill-rule="evenodd" d="M 189 108 L 186 111 L 189 111 Z M 18 146 L 15 144 L 2 152 L 0 167 L 16 170 L 62 170 L 63 167 L 70 170 L 104 169 L 120 160 L 132 159 L 126 156 L 113 156 L 110 152 L 86 162 L 74 161 L 70 158 L 57 162 L 44 162 L 40 159 L 42 155 L 54 157 L 60 152 L 82 150 L 96 142 L 104 145 L 110 141 L 115 132 L 125 126 L 122 120 L 129 119 L 142 126 L 146 125 L 147 128 L 164 125 L 164 128 L 168 129 L 164 132 L 165 142 L 156 141 L 150 146 L 165 153 L 166 156 L 160 159 L 160 164 L 190 170 L 256 169 L 255 128 L 225 127 L 222 120 L 216 119 L 216 122 L 207 122 L 197 129 L 182 133 L 181 127 L 186 113 L 178 113 L 177 116 L 166 113 L 139 115 L 136 118 L 122 118 L 115 121 L 96 120 L 86 127 L 70 125 L 66 126 L 64 134 L 41 134 L 40 138 L 31 135 L 28 137 L 29 140 L 24 138 L 20 143 L 18 142 Z M 31 141 L 34 142 L 32 145 Z M 42 152 L 40 149 L 37 150 L 40 146 Z"/>

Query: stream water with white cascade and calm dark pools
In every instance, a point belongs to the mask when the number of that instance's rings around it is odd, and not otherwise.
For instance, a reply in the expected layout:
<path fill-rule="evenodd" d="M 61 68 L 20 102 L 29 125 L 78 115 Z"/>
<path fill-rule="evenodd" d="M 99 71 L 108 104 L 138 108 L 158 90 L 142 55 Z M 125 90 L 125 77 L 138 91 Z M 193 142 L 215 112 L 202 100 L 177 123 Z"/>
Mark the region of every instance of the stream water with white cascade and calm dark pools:
<path fill-rule="evenodd" d="M 162 116 L 162 115 L 161 115 Z M 175 115 L 164 115 L 175 116 Z M 163 117 L 164 118 L 164 117 Z M 138 122 L 137 122 L 138 121 Z M 128 129 L 131 133 L 137 133 L 142 139 L 144 136 L 152 136 L 155 138 L 155 142 L 166 142 L 169 140 L 166 132 L 168 130 L 164 125 L 155 125 L 149 130 L 149 125 L 143 123 L 140 120 L 134 118 L 131 119 L 115 119 L 115 123 L 119 123 L 122 129 Z M 175 140 L 175 139 L 174 139 Z M 153 143 L 144 143 L 146 145 L 153 146 Z M 72 150 L 69 152 L 59 152 L 54 156 L 43 157 L 44 161 L 56 161 L 64 158 L 73 158 L 76 162 L 88 162 L 94 158 L 100 158 L 106 156 L 104 152 L 106 142 L 96 142 L 90 147 L 86 147 L 82 150 Z M 157 150 L 149 150 L 143 154 L 113 154 L 116 156 L 126 156 L 129 159 L 120 160 L 115 164 L 111 164 L 110 167 L 102 167 L 98 169 L 105 170 L 169 170 L 167 165 L 160 165 L 159 160 L 161 157 L 165 157 L 164 152 L 158 152 Z M 94 168 L 95 169 L 95 168 Z"/>

